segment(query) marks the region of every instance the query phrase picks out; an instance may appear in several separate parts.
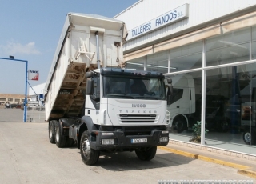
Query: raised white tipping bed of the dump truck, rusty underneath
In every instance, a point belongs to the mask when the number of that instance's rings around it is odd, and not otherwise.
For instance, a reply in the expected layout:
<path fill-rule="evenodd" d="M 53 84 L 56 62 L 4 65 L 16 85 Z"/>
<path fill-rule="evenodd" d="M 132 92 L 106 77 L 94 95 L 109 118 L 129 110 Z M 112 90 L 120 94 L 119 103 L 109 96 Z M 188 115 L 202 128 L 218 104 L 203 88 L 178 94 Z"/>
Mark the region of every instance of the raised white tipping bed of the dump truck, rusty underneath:
<path fill-rule="evenodd" d="M 121 66 L 125 38 L 126 26 L 121 21 L 67 14 L 44 90 L 47 122 L 83 114 L 86 72 L 96 69 L 98 61 L 103 67 Z"/>

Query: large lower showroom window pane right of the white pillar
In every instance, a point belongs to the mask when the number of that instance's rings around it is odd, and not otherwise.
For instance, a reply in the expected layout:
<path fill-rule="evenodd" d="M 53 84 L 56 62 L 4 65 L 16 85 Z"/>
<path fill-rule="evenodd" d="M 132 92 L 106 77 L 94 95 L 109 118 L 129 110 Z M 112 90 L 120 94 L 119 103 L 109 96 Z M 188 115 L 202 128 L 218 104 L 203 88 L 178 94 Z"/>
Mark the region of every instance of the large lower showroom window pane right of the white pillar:
<path fill-rule="evenodd" d="M 206 70 L 207 145 L 256 154 L 255 102 L 256 63 Z"/>

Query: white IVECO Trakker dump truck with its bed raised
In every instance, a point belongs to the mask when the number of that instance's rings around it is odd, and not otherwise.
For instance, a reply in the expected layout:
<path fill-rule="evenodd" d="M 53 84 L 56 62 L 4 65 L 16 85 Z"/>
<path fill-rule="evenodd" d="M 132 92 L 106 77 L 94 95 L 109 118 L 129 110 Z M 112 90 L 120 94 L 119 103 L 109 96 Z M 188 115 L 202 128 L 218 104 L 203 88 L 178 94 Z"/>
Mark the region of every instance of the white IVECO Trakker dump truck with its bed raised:
<path fill-rule="evenodd" d="M 126 36 L 122 21 L 66 16 L 45 87 L 46 122 L 50 142 L 76 144 L 86 165 L 106 151 L 150 160 L 169 142 L 164 76 L 125 68 Z"/>

